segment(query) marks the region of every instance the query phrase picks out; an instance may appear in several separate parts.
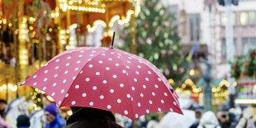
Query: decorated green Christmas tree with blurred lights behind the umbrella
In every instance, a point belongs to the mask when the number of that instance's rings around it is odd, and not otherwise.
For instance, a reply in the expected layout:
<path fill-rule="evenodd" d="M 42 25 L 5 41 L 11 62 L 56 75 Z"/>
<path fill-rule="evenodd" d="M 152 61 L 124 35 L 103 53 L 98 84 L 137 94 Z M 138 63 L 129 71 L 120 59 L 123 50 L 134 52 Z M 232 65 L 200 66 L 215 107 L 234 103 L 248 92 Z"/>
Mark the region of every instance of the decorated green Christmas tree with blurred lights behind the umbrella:
<path fill-rule="evenodd" d="M 175 20 L 159 0 L 147 0 L 142 4 L 135 30 L 137 54 L 156 65 L 177 86 L 182 84 L 187 61 L 182 55 Z M 130 50 L 130 26 L 125 26 L 120 34 L 126 40 L 120 49 Z"/>

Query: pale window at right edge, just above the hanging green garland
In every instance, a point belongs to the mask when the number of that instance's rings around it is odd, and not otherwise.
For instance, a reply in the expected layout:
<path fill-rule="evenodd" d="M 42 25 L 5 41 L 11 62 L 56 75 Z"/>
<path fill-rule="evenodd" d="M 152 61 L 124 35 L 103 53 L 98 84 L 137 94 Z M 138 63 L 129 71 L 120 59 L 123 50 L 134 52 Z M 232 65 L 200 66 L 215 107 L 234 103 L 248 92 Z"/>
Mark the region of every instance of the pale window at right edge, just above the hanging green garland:
<path fill-rule="evenodd" d="M 244 37 L 242 39 L 242 43 L 243 43 L 243 55 L 247 55 L 249 49 L 256 48 L 256 37 L 252 37 L 252 38 Z"/>

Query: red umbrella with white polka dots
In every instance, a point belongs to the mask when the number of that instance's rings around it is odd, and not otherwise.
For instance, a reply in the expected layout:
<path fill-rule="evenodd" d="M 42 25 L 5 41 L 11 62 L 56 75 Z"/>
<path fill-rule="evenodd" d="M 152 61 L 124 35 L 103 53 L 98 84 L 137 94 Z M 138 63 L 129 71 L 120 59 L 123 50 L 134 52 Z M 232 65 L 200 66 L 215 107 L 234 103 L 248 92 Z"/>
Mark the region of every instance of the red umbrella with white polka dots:
<path fill-rule="evenodd" d="M 154 64 L 112 48 L 66 50 L 21 85 L 39 88 L 59 107 L 93 107 L 132 120 L 151 112 L 183 113 L 177 94 Z"/>

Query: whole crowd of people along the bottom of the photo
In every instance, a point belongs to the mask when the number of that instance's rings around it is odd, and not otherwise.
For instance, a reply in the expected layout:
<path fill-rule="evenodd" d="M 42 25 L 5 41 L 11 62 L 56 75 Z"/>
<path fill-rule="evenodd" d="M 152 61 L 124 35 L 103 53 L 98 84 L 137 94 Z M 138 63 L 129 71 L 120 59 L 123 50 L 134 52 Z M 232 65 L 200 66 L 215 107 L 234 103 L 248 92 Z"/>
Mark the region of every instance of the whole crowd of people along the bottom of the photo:
<path fill-rule="evenodd" d="M 16 126 L 5 121 L 7 102 L 0 100 L 0 128 L 29 128 L 31 121 L 29 115 L 17 116 Z M 73 115 L 64 120 L 59 116 L 55 103 L 44 108 L 45 128 L 76 128 L 76 127 L 138 127 L 138 128 L 256 128 L 256 115 L 254 107 L 243 106 L 239 112 L 235 108 L 221 107 L 219 111 L 204 111 L 203 107 L 183 109 L 184 115 L 167 112 L 140 116 L 137 121 L 121 122 L 111 111 L 104 111 L 89 107 L 70 107 Z M 177 115 L 175 115 L 177 114 Z M 174 118 L 176 117 L 176 118 Z M 116 121 L 117 120 L 117 121 Z M 119 125 L 120 124 L 120 125 Z M 176 126 L 175 126 L 176 125 Z"/>

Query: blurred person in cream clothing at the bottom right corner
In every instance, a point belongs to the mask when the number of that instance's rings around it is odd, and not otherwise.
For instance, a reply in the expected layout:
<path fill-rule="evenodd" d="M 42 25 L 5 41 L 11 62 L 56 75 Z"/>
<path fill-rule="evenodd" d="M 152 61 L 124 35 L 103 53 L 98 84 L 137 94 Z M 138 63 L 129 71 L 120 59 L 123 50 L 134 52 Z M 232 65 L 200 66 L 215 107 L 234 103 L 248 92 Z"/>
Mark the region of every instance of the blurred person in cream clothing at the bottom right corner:
<path fill-rule="evenodd" d="M 247 107 L 243 111 L 243 116 L 240 118 L 235 128 L 256 128 L 254 121 L 254 107 Z"/>

